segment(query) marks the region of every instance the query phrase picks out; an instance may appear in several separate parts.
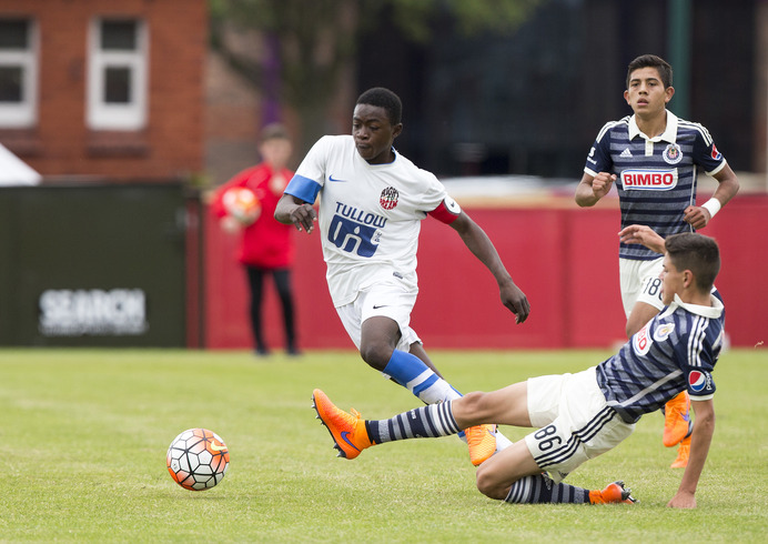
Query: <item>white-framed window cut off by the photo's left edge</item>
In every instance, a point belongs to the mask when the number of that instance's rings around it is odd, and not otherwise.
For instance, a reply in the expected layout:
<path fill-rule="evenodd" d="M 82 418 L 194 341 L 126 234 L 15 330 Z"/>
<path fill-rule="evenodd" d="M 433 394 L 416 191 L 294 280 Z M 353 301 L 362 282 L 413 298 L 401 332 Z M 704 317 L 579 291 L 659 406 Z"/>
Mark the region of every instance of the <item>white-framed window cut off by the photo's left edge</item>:
<path fill-rule="evenodd" d="M 29 19 L 0 18 L 0 127 L 38 121 L 38 40 Z"/>

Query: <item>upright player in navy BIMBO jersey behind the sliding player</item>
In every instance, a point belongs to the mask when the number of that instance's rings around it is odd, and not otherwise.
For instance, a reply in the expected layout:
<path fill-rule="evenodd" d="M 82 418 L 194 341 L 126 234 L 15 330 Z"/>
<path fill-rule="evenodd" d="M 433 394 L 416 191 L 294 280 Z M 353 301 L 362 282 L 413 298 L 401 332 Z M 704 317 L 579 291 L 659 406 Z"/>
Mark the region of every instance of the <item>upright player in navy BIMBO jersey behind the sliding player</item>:
<path fill-rule="evenodd" d="M 638 244 L 638 225 L 663 239 L 703 229 L 738 192 L 739 183 L 707 129 L 666 109 L 675 94 L 671 67 L 644 54 L 627 69 L 624 98 L 634 115 L 600 130 L 576 188 L 576 203 L 595 205 L 614 183 L 622 209 L 619 276 L 627 338 L 656 315 L 664 303 L 659 272 L 663 255 Z M 709 201 L 696 205 L 697 168 L 718 181 Z M 665 410 L 664 445 L 680 444 L 673 467 L 685 467 L 689 453 L 689 399 L 681 393 Z"/>

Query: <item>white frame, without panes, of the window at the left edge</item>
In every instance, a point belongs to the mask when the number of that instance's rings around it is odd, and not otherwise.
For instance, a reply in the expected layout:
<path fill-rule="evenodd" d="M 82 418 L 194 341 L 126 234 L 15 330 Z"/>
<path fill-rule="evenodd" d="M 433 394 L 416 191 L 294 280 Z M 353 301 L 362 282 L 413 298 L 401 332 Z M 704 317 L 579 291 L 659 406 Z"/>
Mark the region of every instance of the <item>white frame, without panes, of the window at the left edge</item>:
<path fill-rule="evenodd" d="M 21 68 L 21 102 L 0 102 L 0 128 L 28 129 L 38 122 L 39 34 L 34 19 L 27 19 L 27 50 L 0 49 L 0 67 Z"/>

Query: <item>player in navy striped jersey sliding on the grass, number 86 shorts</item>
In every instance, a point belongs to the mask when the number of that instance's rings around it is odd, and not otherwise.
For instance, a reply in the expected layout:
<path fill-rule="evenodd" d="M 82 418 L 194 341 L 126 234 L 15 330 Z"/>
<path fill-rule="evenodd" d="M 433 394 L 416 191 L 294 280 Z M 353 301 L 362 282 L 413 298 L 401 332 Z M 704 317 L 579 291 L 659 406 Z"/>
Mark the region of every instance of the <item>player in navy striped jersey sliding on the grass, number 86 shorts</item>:
<path fill-rule="evenodd" d="M 623 482 L 590 491 L 563 478 L 628 437 L 643 414 L 687 390 L 696 427 L 688 465 L 667 505 L 694 508 L 715 431 L 711 373 L 720 354 L 725 312 L 710 291 L 720 255 L 713 239 L 696 233 L 674 234 L 665 248 L 661 284 L 667 306 L 597 366 L 532 377 L 378 421 L 343 412 L 315 390 L 317 416 L 347 459 L 375 444 L 445 436 L 488 421 L 538 427 L 479 466 L 477 487 L 483 494 L 509 503 L 627 503 L 634 498 Z"/>

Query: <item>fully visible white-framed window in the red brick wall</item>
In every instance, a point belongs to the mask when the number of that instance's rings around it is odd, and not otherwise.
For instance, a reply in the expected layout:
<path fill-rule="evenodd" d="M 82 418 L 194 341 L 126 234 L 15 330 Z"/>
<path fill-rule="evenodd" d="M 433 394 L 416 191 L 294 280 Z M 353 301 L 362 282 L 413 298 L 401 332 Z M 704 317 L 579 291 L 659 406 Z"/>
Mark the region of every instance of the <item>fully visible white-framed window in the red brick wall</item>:
<path fill-rule="evenodd" d="M 139 130 L 146 124 L 148 46 L 137 19 L 95 19 L 89 39 L 88 127 Z"/>

